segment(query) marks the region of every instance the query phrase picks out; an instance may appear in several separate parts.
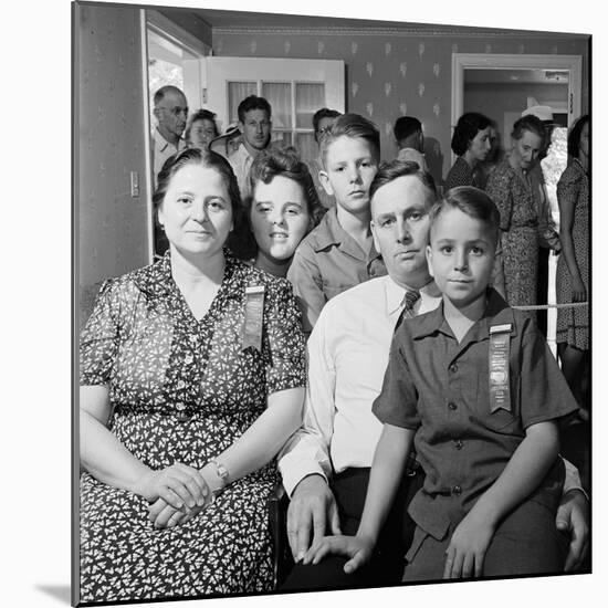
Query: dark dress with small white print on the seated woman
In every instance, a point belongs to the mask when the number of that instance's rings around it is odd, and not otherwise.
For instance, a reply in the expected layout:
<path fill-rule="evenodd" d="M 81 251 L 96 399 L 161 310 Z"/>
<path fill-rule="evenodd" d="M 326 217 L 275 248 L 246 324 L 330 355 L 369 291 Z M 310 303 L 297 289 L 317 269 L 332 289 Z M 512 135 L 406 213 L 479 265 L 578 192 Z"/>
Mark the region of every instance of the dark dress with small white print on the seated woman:
<path fill-rule="evenodd" d="M 264 285 L 261 352 L 242 349 L 244 291 Z M 197 321 L 170 258 L 102 287 L 81 339 L 81 385 L 109 388 L 109 430 L 141 462 L 202 468 L 264 411 L 268 395 L 305 386 L 300 313 L 286 280 L 227 252 L 224 277 Z M 274 461 L 169 530 L 147 501 L 81 475 L 81 601 L 270 590 L 268 497 Z"/>

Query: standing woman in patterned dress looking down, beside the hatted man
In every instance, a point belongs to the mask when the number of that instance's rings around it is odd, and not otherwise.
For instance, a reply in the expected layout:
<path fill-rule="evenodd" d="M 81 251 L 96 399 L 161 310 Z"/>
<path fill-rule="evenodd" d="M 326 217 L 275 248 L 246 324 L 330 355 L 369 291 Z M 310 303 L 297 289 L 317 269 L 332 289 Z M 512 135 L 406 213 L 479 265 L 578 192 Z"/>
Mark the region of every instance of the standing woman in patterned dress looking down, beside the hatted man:
<path fill-rule="evenodd" d="M 528 171 L 545 136 L 542 120 L 527 115 L 513 125 L 513 147 L 488 178 L 485 191 L 501 213 L 504 296 L 511 306 L 536 304 L 538 211 Z"/>

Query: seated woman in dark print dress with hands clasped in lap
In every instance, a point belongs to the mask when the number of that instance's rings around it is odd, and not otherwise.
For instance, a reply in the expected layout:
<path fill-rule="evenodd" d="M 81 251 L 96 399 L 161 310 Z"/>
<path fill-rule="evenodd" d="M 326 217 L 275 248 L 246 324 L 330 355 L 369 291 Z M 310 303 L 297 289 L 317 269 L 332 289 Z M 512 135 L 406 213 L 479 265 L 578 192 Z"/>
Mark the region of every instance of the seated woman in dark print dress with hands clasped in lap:
<path fill-rule="evenodd" d="M 241 203 L 220 155 L 178 155 L 154 202 L 169 251 L 105 283 L 81 340 L 81 601 L 272 586 L 273 458 L 305 385 L 297 306 L 223 248 Z"/>

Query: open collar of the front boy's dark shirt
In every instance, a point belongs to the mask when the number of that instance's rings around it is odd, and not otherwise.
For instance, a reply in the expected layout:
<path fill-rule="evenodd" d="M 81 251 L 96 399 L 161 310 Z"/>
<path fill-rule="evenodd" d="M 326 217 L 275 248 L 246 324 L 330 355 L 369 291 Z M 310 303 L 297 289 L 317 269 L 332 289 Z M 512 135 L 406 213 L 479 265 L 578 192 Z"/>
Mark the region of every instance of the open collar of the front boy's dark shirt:
<path fill-rule="evenodd" d="M 413 339 L 423 338 L 437 332 L 453 335 L 445 317 L 443 316 L 443 301 L 434 311 L 418 318 L 419 323 L 412 324 L 411 326 Z M 475 335 L 472 336 L 472 339 L 481 340 L 488 338 L 490 336 L 490 327 L 506 324 L 511 325 L 511 335 L 517 335 L 517 329 L 513 317 L 513 308 L 509 306 L 496 290 L 489 287 L 488 304 L 483 316 L 476 324 L 478 331 L 475 332 Z"/>

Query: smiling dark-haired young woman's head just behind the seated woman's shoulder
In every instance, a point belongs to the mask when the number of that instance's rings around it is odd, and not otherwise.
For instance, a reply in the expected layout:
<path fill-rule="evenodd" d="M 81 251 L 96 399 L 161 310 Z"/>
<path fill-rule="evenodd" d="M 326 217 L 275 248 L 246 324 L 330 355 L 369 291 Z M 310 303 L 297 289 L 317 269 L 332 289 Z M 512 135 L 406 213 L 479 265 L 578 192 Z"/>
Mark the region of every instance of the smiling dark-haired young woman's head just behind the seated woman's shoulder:
<path fill-rule="evenodd" d="M 231 245 L 255 268 L 286 276 L 295 249 L 321 221 L 321 205 L 308 167 L 294 148 L 261 151 L 250 170 L 245 230 Z"/>

